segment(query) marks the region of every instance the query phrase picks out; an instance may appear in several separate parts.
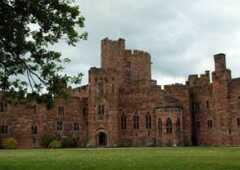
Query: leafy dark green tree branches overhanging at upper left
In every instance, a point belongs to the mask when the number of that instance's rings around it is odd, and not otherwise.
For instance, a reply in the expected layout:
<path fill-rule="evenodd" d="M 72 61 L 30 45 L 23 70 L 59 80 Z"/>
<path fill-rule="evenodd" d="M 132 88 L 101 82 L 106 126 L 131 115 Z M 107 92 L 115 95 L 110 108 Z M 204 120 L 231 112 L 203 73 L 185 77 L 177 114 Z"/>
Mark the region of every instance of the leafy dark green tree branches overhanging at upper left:
<path fill-rule="evenodd" d="M 0 1 L 0 90 L 50 95 L 64 85 L 79 83 L 82 74 L 61 74 L 70 62 L 49 46 L 64 40 L 71 46 L 87 38 L 84 17 L 74 0 Z M 23 78 L 25 77 L 25 78 Z"/>

